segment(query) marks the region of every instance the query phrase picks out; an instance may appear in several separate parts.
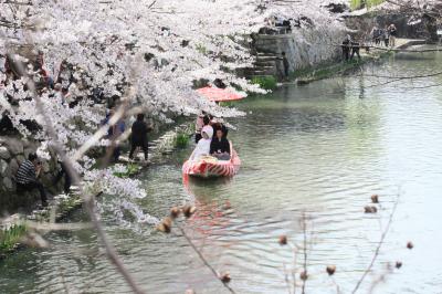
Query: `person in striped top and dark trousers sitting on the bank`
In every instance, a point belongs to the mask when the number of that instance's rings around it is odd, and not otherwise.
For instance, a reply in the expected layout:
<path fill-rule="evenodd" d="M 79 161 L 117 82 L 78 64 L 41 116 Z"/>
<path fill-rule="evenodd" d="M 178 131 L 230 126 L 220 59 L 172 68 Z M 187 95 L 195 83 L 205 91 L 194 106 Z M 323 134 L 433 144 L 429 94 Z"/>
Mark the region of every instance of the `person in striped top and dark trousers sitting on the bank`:
<path fill-rule="evenodd" d="M 38 189 L 43 207 L 48 207 L 48 196 L 43 185 L 38 180 L 42 168 L 42 162 L 36 154 L 30 154 L 17 170 L 15 181 L 20 191 L 27 192 Z"/>

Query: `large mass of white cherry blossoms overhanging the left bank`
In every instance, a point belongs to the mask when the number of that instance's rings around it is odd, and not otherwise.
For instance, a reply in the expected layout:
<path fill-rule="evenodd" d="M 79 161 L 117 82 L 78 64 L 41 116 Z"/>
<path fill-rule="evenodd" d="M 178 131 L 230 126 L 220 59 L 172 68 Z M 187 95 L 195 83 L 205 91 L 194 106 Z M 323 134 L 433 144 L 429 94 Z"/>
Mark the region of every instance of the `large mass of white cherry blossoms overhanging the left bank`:
<path fill-rule="evenodd" d="M 206 80 L 211 84 L 221 78 L 228 87 L 244 95 L 265 93 L 235 74 L 236 69 L 251 66 L 253 62 L 248 48 L 251 33 L 275 17 L 301 20 L 304 28 L 340 25 L 319 0 L 19 2 L 0 1 L 0 54 L 32 45 L 43 54 L 49 75 L 54 80 L 62 77 L 69 97 L 53 90 L 41 91 L 39 95 L 56 139 L 70 156 L 93 136 L 104 118 L 104 106 L 88 98 L 94 88 L 101 88 L 104 96 L 120 97 L 128 108 L 137 106 L 165 120 L 170 114 L 201 111 L 217 116 L 242 115 L 199 96 L 194 82 Z M 61 71 L 62 63 L 72 65 L 71 71 Z M 2 66 L 4 57 L 0 60 Z M 69 82 L 70 74 L 75 82 Z M 48 135 L 35 99 L 25 87 L 27 81 L 6 80 L 1 72 L 0 117 L 8 115 L 21 135 L 42 141 L 39 154 L 49 157 L 46 147 L 53 138 Z M 128 94 L 129 85 L 134 93 Z M 69 105 L 76 99 L 76 105 Z M 24 120 L 34 120 L 41 128 L 30 132 Z M 96 145 L 107 143 L 98 140 Z M 138 220 L 151 221 L 131 201 L 146 196 L 139 181 L 117 178 L 112 169 L 94 169 L 94 164 L 93 158 L 83 156 L 75 161 L 75 168 L 105 192 L 118 195 L 123 203 L 119 207 L 131 210 Z"/>

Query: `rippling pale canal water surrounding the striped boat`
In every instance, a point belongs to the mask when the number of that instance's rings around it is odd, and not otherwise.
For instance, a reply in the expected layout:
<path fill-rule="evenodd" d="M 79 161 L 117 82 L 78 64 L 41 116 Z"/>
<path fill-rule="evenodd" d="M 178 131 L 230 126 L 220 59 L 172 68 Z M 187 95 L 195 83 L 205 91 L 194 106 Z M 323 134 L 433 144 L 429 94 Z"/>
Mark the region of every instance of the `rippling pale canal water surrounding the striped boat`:
<path fill-rule="evenodd" d="M 230 272 L 238 293 L 288 293 L 304 243 L 306 293 L 351 293 L 397 202 L 360 293 L 442 293 L 442 76 L 373 76 L 435 73 L 441 62 L 440 53 L 397 54 L 366 66 L 364 75 L 249 97 L 239 104 L 248 115 L 230 120 L 242 159 L 236 177 L 183 185 L 189 148 L 140 176 L 148 197 L 137 204 L 160 219 L 172 206 L 194 202 L 197 214 L 181 225 L 218 271 Z M 373 193 L 378 212 L 364 213 Z M 70 221 L 84 220 L 83 213 Z M 113 214 L 103 222 L 147 293 L 227 293 L 177 230 L 162 234 L 130 219 L 123 225 Z M 282 234 L 291 245 L 278 244 Z M 0 293 L 129 291 L 94 232 L 46 237 L 49 249 L 0 262 Z M 327 265 L 336 265 L 332 279 Z"/>

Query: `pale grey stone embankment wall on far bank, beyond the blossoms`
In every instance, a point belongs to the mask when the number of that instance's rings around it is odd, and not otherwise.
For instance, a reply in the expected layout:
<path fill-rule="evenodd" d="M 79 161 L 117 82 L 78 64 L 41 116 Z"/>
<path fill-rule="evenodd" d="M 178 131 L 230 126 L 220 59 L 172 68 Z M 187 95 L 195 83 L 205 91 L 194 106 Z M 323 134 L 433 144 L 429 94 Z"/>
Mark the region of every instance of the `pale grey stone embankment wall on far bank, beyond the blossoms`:
<path fill-rule="evenodd" d="M 254 48 L 257 52 L 271 53 L 281 57 L 285 52 L 290 63 L 290 72 L 314 67 L 341 56 L 340 44 L 346 32 L 343 28 L 305 28 L 296 29 L 286 34 L 260 34 Z M 274 75 L 282 76 L 284 66 L 281 60 L 276 62 Z"/>

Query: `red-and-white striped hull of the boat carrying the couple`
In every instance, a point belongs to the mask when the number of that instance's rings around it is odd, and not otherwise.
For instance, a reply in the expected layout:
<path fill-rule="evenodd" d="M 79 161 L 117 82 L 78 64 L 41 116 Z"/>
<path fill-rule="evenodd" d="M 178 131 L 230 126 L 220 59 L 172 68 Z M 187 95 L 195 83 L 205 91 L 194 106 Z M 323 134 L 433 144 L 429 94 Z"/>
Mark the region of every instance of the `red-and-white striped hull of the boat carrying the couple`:
<path fill-rule="evenodd" d="M 231 150 L 229 160 L 219 160 L 212 156 L 201 157 L 197 161 L 187 160 L 182 166 L 182 174 L 200 178 L 233 177 L 240 169 L 241 159 L 235 150 Z"/>

